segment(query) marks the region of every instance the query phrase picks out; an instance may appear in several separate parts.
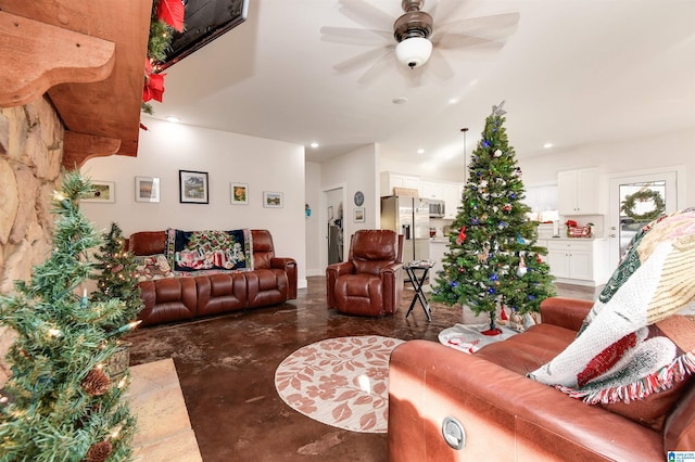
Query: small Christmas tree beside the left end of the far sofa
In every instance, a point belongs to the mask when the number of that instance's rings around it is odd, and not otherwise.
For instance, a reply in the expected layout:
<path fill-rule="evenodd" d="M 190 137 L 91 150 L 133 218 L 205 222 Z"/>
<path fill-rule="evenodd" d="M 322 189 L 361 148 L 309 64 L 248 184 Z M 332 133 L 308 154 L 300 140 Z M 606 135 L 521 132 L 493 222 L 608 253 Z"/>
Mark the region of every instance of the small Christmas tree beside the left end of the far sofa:
<path fill-rule="evenodd" d="M 124 319 L 135 321 L 138 312 L 143 307 L 138 285 L 137 262 L 134 255 L 125 249 L 123 231 L 116 223 L 111 223 L 109 232 L 102 235 L 103 243 L 94 258 L 99 261 L 94 265 L 99 274 L 97 288 L 90 296 L 92 301 L 109 301 L 118 298 L 125 306 Z M 119 324 L 112 329 L 119 328 Z"/>

